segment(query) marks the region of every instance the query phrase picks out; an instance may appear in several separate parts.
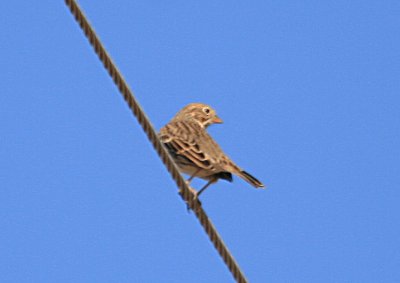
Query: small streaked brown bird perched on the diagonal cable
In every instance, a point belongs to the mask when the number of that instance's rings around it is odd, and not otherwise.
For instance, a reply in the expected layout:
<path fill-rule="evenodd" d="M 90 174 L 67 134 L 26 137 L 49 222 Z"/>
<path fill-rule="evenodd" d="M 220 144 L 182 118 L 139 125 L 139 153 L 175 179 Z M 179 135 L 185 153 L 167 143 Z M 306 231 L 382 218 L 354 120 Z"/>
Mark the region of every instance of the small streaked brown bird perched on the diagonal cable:
<path fill-rule="evenodd" d="M 237 166 L 207 133 L 208 126 L 221 123 L 222 120 L 210 106 L 191 103 L 160 130 L 161 142 L 180 171 L 190 176 L 188 184 L 194 177 L 208 180 L 208 183 L 195 193 L 196 197 L 218 179 L 232 182 L 232 174 L 241 177 L 255 188 L 264 187 L 263 183 Z"/>

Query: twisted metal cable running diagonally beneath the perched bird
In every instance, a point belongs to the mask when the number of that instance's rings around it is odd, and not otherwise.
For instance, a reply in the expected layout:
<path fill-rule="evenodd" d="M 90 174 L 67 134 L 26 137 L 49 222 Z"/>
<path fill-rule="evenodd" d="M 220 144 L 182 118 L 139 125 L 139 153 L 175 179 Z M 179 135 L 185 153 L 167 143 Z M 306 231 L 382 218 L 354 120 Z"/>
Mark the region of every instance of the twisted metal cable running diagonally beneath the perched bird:
<path fill-rule="evenodd" d="M 238 263 L 233 258 L 232 254 L 229 252 L 225 243 L 223 242 L 221 236 L 218 234 L 216 228 L 212 224 L 211 220 L 208 218 L 207 214 L 203 210 L 201 203 L 195 198 L 193 192 L 189 189 L 186 181 L 183 179 L 182 175 L 179 173 L 177 166 L 170 157 L 169 153 L 166 151 L 161 141 L 157 137 L 157 133 L 154 127 L 147 118 L 145 112 L 140 107 L 139 103 L 133 96 L 133 92 L 130 90 L 128 84 L 125 82 L 123 76 L 111 60 L 107 51 L 101 44 L 99 38 L 94 32 L 93 28 L 89 24 L 82 10 L 78 6 L 75 0 L 65 0 L 66 5 L 70 9 L 71 13 L 74 15 L 75 20 L 79 23 L 81 29 L 83 30 L 85 36 L 89 40 L 90 44 L 94 48 L 100 61 L 103 63 L 104 68 L 107 69 L 109 75 L 113 79 L 114 83 L 118 86 L 118 89 L 122 96 L 124 97 L 129 108 L 133 112 L 134 116 L 137 118 L 139 124 L 142 126 L 143 131 L 146 133 L 148 139 L 152 143 L 157 154 L 160 156 L 162 162 L 167 167 L 168 172 L 171 174 L 176 185 L 179 188 L 179 194 L 182 199 L 189 205 L 189 207 L 194 211 L 200 224 L 203 226 L 205 232 L 207 233 L 210 241 L 213 243 L 215 249 L 218 251 L 219 255 L 225 262 L 226 266 L 229 268 L 232 276 L 237 282 L 244 283 L 247 282 L 243 272 L 240 270 Z"/>

